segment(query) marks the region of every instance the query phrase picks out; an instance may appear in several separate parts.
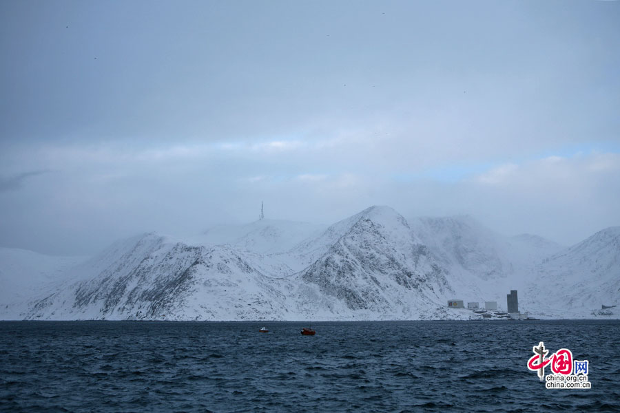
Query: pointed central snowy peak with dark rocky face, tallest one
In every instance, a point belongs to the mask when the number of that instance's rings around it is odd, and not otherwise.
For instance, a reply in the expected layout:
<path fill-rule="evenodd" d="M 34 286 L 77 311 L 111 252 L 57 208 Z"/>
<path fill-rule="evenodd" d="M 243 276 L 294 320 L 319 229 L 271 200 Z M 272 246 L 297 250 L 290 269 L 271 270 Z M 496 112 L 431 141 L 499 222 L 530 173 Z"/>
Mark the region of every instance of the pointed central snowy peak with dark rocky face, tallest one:
<path fill-rule="evenodd" d="M 429 308 L 443 306 L 453 294 L 442 268 L 415 239 L 406 220 L 389 207 L 353 215 L 330 227 L 314 244 L 326 239 L 333 244 L 298 283 L 300 296 L 307 297 L 302 308 L 308 313 L 327 306 L 331 313 L 361 317 L 424 318 Z"/>

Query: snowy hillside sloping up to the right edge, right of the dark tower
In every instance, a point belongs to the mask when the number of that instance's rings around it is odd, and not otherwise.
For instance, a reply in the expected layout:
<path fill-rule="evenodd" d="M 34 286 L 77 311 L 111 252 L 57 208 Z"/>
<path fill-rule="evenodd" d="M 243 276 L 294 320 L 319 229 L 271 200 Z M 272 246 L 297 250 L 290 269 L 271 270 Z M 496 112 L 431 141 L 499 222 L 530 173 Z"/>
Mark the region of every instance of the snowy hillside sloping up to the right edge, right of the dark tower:
<path fill-rule="evenodd" d="M 592 317 L 601 305 L 620 316 L 620 226 L 544 260 L 533 270 L 524 308 L 546 317 Z"/>

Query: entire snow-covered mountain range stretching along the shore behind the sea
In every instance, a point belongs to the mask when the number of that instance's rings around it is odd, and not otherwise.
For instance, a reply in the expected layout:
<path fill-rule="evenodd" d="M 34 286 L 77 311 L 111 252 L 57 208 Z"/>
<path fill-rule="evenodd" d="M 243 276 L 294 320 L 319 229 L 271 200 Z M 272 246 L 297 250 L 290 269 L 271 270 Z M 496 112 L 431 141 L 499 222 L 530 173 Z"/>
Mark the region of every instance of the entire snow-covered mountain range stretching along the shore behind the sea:
<path fill-rule="evenodd" d="M 503 306 L 515 288 L 521 308 L 541 315 L 617 304 L 619 229 L 562 249 L 468 217 L 410 222 L 371 207 L 327 229 L 259 220 L 195 237 L 147 233 L 84 262 L 3 248 L 0 319 L 468 319 L 477 316 L 446 300 Z M 541 294 L 533 279 L 565 288 Z"/>

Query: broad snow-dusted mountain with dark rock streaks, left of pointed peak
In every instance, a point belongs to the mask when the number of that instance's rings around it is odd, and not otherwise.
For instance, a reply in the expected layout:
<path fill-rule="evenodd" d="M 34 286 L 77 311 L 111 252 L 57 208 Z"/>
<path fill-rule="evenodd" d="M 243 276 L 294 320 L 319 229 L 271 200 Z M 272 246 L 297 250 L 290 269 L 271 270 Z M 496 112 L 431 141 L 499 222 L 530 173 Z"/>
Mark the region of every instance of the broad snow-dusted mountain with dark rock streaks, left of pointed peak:
<path fill-rule="evenodd" d="M 282 299 L 257 268 L 261 255 L 229 246 L 192 246 L 149 233 L 118 242 L 73 282 L 34 301 L 28 319 L 260 319 Z M 93 275 L 94 274 L 94 275 Z M 265 302 L 264 302 L 265 301 Z M 270 301 L 270 302 L 267 302 Z M 265 305 L 263 305 L 265 304 Z"/>

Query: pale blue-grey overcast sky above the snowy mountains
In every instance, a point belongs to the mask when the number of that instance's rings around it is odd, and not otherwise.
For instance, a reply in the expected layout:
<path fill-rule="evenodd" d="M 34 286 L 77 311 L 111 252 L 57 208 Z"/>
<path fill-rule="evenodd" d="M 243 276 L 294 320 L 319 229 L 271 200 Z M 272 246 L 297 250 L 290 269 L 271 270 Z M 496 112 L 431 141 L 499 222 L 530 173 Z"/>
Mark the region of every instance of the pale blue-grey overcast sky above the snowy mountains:
<path fill-rule="evenodd" d="M 0 2 L 0 246 L 373 204 L 620 225 L 620 2 Z"/>

